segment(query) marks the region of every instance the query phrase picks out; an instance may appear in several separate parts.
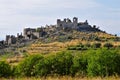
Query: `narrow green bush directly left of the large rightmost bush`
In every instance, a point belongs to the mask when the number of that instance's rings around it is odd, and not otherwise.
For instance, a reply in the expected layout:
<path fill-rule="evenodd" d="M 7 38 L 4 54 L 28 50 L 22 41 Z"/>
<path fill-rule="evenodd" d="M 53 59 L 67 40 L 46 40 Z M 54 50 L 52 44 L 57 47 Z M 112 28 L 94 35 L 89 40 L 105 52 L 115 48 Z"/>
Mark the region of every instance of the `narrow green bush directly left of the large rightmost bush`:
<path fill-rule="evenodd" d="M 71 75 L 85 76 L 87 70 L 87 57 L 85 54 L 76 54 L 73 58 L 73 65 L 71 67 Z"/>

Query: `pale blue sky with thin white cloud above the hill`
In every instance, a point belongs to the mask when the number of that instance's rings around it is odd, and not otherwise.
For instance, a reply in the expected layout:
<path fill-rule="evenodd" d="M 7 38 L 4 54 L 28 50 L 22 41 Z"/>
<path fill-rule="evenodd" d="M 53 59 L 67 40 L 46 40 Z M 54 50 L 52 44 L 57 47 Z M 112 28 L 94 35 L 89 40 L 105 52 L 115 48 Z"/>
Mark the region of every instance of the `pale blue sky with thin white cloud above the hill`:
<path fill-rule="evenodd" d="M 120 0 L 0 0 L 0 39 L 24 28 L 78 17 L 110 34 L 120 34 Z"/>

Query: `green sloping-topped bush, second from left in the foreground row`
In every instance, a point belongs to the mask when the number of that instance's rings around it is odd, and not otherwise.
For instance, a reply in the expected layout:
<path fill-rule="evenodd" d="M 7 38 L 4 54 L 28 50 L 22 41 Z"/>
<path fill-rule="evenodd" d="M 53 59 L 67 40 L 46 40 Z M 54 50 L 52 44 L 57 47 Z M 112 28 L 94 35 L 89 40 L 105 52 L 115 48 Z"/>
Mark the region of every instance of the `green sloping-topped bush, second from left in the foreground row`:
<path fill-rule="evenodd" d="M 31 55 L 27 57 L 23 62 L 21 62 L 16 73 L 22 76 L 35 76 L 35 65 L 38 64 L 38 61 L 43 59 L 41 55 Z"/>

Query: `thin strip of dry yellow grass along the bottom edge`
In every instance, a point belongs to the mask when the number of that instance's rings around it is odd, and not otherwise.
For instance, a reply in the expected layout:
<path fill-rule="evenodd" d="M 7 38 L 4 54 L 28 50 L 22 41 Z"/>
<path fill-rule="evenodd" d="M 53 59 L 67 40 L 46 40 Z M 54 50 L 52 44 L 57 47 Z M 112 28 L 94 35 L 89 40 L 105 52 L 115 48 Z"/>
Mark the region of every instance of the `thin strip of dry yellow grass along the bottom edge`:
<path fill-rule="evenodd" d="M 62 76 L 62 77 L 42 77 L 42 78 L 35 78 L 35 77 L 25 77 L 25 78 L 10 78 L 10 79 L 5 79 L 1 78 L 0 80 L 120 80 L 120 77 L 70 77 L 70 76 Z"/>

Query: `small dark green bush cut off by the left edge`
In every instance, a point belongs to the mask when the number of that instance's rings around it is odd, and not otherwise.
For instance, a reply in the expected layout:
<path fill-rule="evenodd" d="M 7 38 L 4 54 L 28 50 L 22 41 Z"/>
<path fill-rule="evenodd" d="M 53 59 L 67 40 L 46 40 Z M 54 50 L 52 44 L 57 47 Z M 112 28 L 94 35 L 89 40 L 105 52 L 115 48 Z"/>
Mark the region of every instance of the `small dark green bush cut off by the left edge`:
<path fill-rule="evenodd" d="M 0 77 L 9 77 L 11 75 L 11 67 L 4 61 L 0 61 Z"/>

